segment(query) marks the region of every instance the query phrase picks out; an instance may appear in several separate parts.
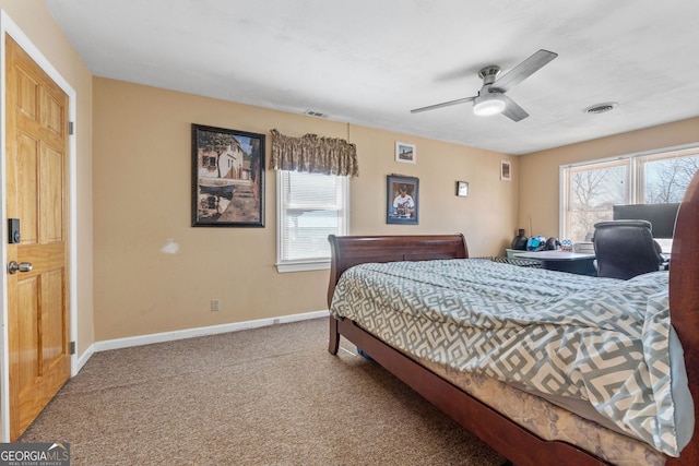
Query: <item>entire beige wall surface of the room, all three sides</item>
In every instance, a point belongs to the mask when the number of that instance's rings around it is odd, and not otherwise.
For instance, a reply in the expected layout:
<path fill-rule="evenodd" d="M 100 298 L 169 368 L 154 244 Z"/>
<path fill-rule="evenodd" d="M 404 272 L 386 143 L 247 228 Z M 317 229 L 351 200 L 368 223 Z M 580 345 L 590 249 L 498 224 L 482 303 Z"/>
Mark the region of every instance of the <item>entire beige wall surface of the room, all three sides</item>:
<path fill-rule="evenodd" d="M 509 157 L 109 80 L 93 82 L 42 1 L 0 0 L 0 8 L 78 94 L 79 355 L 94 340 L 325 308 L 327 271 L 279 274 L 274 267 L 274 172 L 266 172 L 265 228 L 189 226 L 192 122 L 347 139 L 357 144 L 360 164 L 360 176 L 352 181 L 352 234 L 463 231 L 472 255 L 502 253 L 517 228 L 530 232 L 530 216 L 535 234 L 558 235 L 560 165 L 696 143 L 699 134 L 699 119 L 692 119 Z M 396 140 L 417 145 L 417 164 L 394 162 Z M 499 181 L 501 159 L 512 162 L 512 182 Z M 420 225 L 386 224 L 389 174 L 419 178 Z M 454 195 L 457 180 L 470 182 L 469 198 Z M 180 244 L 178 254 L 159 252 L 167 238 Z M 212 298 L 221 299 L 217 313 L 209 310 Z"/>

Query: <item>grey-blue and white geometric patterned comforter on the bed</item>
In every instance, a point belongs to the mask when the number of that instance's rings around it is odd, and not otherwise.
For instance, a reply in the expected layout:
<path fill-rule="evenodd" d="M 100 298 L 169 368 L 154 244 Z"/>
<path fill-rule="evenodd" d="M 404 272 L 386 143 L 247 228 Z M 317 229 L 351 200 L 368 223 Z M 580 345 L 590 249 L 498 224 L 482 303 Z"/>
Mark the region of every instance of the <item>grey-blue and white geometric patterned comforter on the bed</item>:
<path fill-rule="evenodd" d="M 588 401 L 677 456 L 667 290 L 666 272 L 618 280 L 483 259 L 369 263 L 343 273 L 330 313 L 408 354 Z"/>

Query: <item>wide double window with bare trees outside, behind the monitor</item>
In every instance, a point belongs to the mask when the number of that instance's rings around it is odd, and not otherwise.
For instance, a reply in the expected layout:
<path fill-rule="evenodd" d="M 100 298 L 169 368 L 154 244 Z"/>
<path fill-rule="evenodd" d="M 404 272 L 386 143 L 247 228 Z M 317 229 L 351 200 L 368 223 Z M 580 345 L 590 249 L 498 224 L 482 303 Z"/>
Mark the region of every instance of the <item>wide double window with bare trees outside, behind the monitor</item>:
<path fill-rule="evenodd" d="M 615 204 L 680 202 L 699 169 L 699 147 L 561 167 L 561 237 L 590 241 Z"/>

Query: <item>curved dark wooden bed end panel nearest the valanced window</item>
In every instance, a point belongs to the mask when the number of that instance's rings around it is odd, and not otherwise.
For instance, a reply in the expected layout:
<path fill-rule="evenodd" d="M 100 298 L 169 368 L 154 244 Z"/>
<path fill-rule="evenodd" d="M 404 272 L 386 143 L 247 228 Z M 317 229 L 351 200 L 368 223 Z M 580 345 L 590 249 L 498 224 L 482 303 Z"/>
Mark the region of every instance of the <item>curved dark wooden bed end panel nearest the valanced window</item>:
<path fill-rule="evenodd" d="M 360 237 L 330 235 L 328 241 L 332 253 L 328 306 L 332 301 L 340 275 L 353 265 L 365 262 L 428 261 L 469 256 L 469 248 L 462 234 Z"/>

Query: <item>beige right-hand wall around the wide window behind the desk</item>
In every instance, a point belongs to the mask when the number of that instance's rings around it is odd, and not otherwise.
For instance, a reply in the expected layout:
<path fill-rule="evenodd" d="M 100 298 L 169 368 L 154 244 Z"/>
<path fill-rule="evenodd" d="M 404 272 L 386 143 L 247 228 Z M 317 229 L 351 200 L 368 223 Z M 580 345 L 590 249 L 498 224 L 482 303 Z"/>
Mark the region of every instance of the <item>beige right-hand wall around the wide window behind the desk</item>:
<path fill-rule="evenodd" d="M 519 228 L 526 235 L 559 236 L 561 165 L 699 142 L 699 118 L 678 121 L 519 157 Z M 533 231 L 530 230 L 530 218 Z"/>

